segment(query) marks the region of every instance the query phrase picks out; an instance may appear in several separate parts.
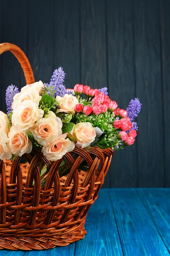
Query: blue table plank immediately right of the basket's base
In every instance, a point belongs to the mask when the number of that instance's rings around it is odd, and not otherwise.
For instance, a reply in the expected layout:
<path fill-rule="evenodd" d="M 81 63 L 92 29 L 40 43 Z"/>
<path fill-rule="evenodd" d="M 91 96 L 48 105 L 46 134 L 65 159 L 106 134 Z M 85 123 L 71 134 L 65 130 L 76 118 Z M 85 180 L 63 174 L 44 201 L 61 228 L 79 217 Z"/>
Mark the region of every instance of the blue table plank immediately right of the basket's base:
<path fill-rule="evenodd" d="M 123 256 L 108 189 L 101 189 L 86 217 L 87 234 L 75 246 L 78 256 Z"/>

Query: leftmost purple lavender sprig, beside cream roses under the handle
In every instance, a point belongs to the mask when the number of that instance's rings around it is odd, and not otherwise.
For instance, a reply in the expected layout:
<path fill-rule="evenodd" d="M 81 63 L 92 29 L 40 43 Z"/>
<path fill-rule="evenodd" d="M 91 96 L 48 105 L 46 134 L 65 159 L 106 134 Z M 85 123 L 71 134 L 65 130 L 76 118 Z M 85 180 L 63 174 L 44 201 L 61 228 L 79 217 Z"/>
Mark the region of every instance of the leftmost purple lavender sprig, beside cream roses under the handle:
<path fill-rule="evenodd" d="M 19 91 L 19 89 L 11 84 L 7 87 L 6 93 L 5 93 L 5 101 L 6 101 L 6 106 L 7 106 L 7 114 L 9 114 L 12 111 L 12 103 L 13 103 L 13 97 L 15 96 L 15 94 L 17 94 Z"/>

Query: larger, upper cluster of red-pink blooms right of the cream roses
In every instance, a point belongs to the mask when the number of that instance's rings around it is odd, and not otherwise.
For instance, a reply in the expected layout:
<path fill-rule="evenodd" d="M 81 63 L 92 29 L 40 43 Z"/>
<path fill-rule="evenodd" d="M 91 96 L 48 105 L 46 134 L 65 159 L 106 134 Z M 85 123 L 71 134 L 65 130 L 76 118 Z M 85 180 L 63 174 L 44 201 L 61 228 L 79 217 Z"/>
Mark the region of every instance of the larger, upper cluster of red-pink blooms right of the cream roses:
<path fill-rule="evenodd" d="M 84 115 L 99 115 L 100 113 L 105 113 L 107 110 L 113 112 L 118 105 L 115 101 L 110 100 L 106 94 L 100 92 L 98 89 L 91 89 L 88 85 L 76 84 L 74 87 L 75 94 L 81 94 L 82 92 L 86 97 L 92 98 L 92 106 L 86 105 L 82 106 L 81 103 L 75 105 L 76 112 L 83 112 Z"/>

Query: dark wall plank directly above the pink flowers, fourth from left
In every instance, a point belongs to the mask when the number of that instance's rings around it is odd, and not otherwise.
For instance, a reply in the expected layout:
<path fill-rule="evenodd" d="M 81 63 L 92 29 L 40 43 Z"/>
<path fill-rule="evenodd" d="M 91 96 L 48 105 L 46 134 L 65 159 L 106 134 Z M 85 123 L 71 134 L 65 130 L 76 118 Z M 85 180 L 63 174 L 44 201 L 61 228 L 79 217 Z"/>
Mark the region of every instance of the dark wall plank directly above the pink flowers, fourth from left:
<path fill-rule="evenodd" d="M 107 85 L 105 2 L 81 0 L 81 83 Z"/>

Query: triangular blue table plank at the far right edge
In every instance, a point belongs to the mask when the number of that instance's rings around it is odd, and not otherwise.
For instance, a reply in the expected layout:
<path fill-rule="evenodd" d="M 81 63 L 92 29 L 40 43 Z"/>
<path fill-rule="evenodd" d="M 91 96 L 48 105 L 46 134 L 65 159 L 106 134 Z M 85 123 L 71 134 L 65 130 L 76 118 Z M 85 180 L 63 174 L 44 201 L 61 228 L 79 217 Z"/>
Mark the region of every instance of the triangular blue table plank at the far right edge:
<path fill-rule="evenodd" d="M 138 193 L 170 252 L 170 189 L 139 189 Z"/>

